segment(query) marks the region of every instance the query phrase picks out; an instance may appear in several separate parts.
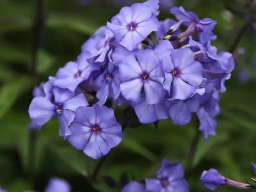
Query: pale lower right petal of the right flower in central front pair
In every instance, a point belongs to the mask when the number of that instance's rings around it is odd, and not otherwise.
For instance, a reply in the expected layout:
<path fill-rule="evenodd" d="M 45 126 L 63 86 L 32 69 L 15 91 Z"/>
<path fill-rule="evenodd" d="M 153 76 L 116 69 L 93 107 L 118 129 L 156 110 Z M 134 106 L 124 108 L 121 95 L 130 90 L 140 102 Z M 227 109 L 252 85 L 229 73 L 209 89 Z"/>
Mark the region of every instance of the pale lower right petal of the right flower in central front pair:
<path fill-rule="evenodd" d="M 185 100 L 189 98 L 195 90 L 195 87 L 190 86 L 180 78 L 174 78 L 172 80 L 172 98 L 174 99 Z"/>

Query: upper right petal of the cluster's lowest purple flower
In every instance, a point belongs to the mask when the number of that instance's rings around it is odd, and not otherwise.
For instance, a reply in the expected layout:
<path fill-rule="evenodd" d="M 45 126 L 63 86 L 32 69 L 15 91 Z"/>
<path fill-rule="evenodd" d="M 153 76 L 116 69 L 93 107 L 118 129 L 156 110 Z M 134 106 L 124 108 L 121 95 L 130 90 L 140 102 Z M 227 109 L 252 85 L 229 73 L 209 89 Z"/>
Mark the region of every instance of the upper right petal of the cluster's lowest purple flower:
<path fill-rule="evenodd" d="M 95 106 L 96 125 L 100 128 L 109 128 L 116 124 L 114 110 L 106 106 Z"/>

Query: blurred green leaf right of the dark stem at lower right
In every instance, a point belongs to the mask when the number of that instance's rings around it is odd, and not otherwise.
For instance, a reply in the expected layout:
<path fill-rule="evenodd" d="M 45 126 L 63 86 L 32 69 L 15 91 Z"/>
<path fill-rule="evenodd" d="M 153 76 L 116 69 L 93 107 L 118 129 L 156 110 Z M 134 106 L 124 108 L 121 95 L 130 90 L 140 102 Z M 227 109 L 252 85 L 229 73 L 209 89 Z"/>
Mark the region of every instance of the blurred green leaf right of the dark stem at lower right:
<path fill-rule="evenodd" d="M 218 134 L 217 136 L 210 137 L 209 140 L 205 140 L 201 138 L 198 147 L 196 148 L 194 160 L 192 161 L 192 168 L 195 167 L 200 160 L 204 157 L 204 155 L 210 151 L 210 149 L 221 142 L 228 140 L 228 134 Z"/>

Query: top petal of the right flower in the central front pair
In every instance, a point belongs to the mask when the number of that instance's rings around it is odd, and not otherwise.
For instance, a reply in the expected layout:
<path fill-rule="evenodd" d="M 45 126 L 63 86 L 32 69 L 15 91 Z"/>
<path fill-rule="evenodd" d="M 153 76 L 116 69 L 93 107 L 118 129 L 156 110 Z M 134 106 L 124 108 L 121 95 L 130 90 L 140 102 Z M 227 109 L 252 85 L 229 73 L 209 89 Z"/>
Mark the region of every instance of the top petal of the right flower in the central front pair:
<path fill-rule="evenodd" d="M 194 62 L 194 53 L 190 48 L 174 49 L 171 54 L 174 68 L 178 70 L 184 69 L 186 66 Z"/>

